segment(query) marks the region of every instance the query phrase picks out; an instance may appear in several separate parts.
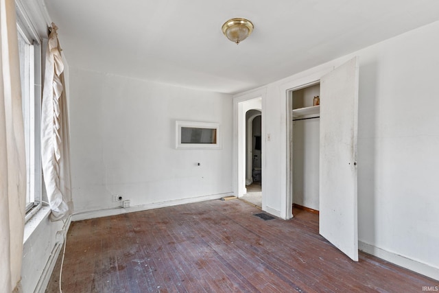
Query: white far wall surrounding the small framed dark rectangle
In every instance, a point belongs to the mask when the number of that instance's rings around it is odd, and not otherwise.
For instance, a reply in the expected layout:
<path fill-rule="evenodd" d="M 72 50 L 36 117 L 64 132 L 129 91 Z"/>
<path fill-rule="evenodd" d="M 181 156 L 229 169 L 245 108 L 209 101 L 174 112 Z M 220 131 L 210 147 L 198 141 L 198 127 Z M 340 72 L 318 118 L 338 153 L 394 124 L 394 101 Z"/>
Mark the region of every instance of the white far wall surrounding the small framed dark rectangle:
<path fill-rule="evenodd" d="M 70 91 L 75 212 L 232 191 L 230 95 L 72 68 Z M 176 150 L 176 120 L 221 124 L 222 150 Z"/>

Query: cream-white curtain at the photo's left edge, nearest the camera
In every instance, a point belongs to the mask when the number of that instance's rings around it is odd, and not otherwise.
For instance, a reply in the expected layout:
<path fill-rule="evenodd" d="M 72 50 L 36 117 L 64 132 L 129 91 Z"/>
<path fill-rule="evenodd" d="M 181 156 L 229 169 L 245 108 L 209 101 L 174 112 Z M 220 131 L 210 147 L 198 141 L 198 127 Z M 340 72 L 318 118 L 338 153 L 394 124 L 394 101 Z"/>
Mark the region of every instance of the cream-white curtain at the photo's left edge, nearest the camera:
<path fill-rule="evenodd" d="M 26 162 L 15 3 L 0 0 L 0 291 L 21 292 Z M 4 291 L 2 291 L 4 290 Z"/>

